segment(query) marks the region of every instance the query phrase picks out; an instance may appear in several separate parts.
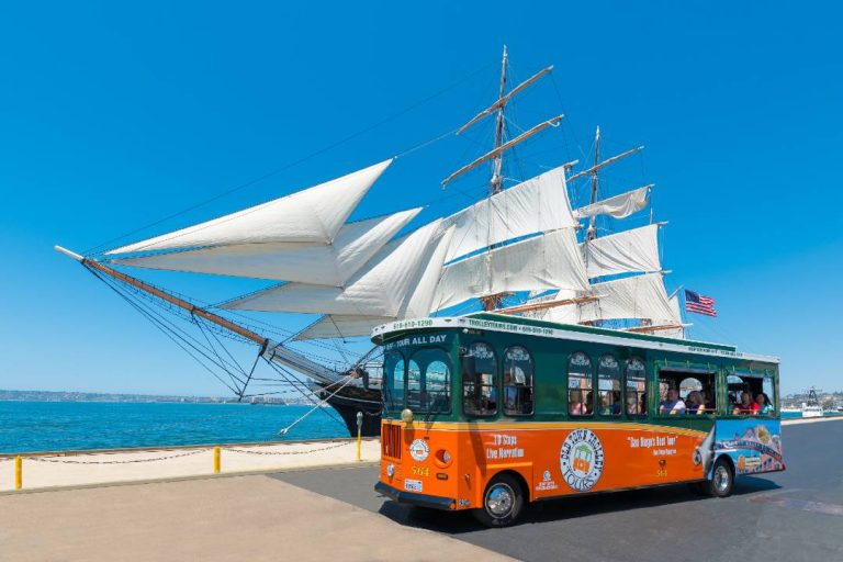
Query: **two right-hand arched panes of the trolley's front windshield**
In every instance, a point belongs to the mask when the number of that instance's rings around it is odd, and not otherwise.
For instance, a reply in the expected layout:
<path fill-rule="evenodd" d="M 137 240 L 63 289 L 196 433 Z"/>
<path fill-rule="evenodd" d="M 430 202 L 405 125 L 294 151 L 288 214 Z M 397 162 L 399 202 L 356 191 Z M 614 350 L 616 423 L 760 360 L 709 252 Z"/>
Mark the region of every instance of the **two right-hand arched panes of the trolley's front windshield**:
<path fill-rule="evenodd" d="M 425 348 L 413 353 L 407 369 L 407 407 L 419 412 L 450 412 L 450 361 L 442 349 Z"/>

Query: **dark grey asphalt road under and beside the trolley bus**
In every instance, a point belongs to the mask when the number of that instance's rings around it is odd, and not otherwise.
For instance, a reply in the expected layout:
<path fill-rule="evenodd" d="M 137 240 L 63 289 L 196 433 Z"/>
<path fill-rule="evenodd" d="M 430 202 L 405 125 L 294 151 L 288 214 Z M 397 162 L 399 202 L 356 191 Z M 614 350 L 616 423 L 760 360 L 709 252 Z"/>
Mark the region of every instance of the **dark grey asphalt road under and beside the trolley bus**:
<path fill-rule="evenodd" d="M 843 422 L 786 426 L 783 441 L 788 470 L 739 479 L 727 499 L 685 486 L 560 499 L 508 529 L 385 501 L 372 467 L 272 477 L 522 560 L 843 560 Z"/>

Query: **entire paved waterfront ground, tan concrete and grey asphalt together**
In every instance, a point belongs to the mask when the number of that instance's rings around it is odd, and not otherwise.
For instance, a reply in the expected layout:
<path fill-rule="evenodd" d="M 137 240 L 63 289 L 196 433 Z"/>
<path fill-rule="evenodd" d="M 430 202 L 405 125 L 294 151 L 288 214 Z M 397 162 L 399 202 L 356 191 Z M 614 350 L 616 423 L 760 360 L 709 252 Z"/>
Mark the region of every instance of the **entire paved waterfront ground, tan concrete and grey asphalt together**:
<path fill-rule="evenodd" d="M 353 441 L 321 451 L 316 442 L 286 445 L 295 447 L 288 451 L 312 450 L 276 458 L 239 453 L 258 461 L 234 461 L 235 451 L 223 450 L 220 476 L 211 474 L 211 448 L 169 460 L 183 463 L 182 472 L 195 462 L 195 470 L 202 471 L 195 477 L 159 472 L 165 480 L 117 484 L 113 479 L 131 473 L 102 469 L 98 477 L 112 479 L 111 485 L 56 490 L 27 488 L 24 473 L 22 492 L 0 493 L 0 561 L 650 561 L 665 553 L 694 562 L 843 559 L 843 420 L 787 423 L 783 442 L 787 471 L 739 477 L 734 495 L 726 499 L 701 498 L 684 485 L 585 495 L 535 504 L 522 524 L 507 529 L 482 528 L 467 513 L 414 509 L 386 501 L 372 490 L 376 464 L 357 462 Z M 367 440 L 363 450 L 369 461 L 376 459 L 378 441 Z M 178 451 L 190 448 L 169 452 Z M 131 460 L 167 453 L 87 457 Z M 319 468 L 314 459 L 341 464 Z M 255 462 L 266 464 L 256 468 Z M 273 469 L 272 463 L 288 467 Z M 7 487 L 13 480 L 12 464 L 0 463 Z M 145 464 L 99 467 L 146 476 L 150 469 L 135 467 Z M 58 474 L 72 465 L 49 467 Z M 83 472 L 98 465 L 77 467 L 74 477 L 82 481 Z M 236 467 L 265 474 L 226 474 L 226 468 Z M 30 484 L 67 483 L 50 481 L 46 473 L 38 477 L 33 475 L 36 480 Z"/>

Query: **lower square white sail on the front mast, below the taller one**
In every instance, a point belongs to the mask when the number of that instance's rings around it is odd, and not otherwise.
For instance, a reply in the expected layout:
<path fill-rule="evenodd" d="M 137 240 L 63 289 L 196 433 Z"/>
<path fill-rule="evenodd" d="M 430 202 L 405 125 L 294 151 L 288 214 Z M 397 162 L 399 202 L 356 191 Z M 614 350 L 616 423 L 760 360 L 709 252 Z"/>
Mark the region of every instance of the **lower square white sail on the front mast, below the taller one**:
<path fill-rule="evenodd" d="M 454 233 L 456 236 L 458 233 Z M 537 289 L 588 289 L 572 228 L 495 248 L 446 266 L 434 306 L 442 310 L 479 296 Z"/>

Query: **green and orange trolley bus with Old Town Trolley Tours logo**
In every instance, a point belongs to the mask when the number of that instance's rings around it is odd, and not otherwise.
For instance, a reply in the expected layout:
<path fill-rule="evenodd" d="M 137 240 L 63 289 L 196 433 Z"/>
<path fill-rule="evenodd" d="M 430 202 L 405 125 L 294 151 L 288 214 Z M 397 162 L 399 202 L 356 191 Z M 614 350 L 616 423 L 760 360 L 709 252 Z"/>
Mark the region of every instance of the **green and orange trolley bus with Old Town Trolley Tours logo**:
<path fill-rule="evenodd" d="M 395 502 L 503 527 L 531 502 L 683 482 L 724 497 L 739 474 L 785 469 L 777 358 L 491 313 L 372 339 L 375 490 Z"/>

